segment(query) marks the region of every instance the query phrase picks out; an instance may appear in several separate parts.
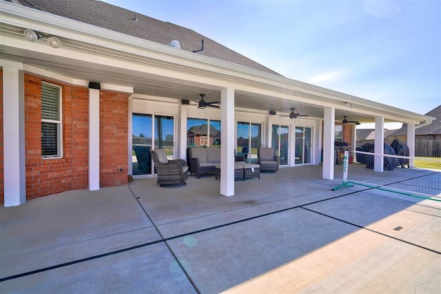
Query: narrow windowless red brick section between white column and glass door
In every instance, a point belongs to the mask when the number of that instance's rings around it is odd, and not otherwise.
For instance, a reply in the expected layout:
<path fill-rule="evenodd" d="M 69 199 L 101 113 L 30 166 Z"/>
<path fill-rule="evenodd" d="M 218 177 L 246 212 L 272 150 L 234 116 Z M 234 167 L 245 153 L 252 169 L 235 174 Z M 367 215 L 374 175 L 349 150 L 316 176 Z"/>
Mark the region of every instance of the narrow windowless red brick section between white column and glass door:
<path fill-rule="evenodd" d="M 129 94 L 100 91 L 100 186 L 127 184 Z"/>

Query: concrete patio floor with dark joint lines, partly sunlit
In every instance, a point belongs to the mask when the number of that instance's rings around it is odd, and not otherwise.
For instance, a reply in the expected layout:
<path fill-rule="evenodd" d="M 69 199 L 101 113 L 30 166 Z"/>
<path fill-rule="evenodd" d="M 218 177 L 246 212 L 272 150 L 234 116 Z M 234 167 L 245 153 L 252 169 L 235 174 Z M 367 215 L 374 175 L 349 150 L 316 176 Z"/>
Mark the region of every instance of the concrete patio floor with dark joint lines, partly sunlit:
<path fill-rule="evenodd" d="M 232 197 L 214 176 L 150 178 L 1 207 L 0 293 L 440 293 L 441 202 L 331 191 L 339 175 L 280 169 Z"/>

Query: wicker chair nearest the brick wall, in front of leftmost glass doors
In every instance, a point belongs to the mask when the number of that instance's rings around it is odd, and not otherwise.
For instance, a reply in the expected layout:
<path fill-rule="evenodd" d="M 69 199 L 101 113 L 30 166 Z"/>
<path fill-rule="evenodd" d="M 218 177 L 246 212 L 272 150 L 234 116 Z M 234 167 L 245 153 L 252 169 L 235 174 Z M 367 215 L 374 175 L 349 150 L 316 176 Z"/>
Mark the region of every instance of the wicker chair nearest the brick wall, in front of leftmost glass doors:
<path fill-rule="evenodd" d="M 167 160 L 164 149 L 154 149 L 150 151 L 154 168 L 158 174 L 156 183 L 163 186 L 169 185 L 186 185 L 187 180 L 187 163 L 183 159 Z"/>

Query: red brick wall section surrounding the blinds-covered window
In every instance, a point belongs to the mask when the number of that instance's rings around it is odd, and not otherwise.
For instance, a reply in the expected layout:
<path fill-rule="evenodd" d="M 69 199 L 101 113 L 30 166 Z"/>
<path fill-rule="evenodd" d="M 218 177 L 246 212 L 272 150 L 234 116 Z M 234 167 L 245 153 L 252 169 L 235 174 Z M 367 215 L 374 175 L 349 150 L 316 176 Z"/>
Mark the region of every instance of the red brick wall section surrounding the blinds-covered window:
<path fill-rule="evenodd" d="M 41 81 L 25 74 L 26 199 L 88 187 L 88 88 L 62 87 L 63 158 L 41 158 Z"/>

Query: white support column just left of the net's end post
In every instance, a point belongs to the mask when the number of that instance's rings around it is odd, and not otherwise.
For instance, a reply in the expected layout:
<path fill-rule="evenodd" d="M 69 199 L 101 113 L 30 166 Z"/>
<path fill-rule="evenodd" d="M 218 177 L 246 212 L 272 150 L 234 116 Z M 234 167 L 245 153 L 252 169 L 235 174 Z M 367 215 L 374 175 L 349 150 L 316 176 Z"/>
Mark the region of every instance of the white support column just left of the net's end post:
<path fill-rule="evenodd" d="M 336 109 L 325 107 L 325 124 L 323 126 L 323 169 L 322 178 L 334 180 L 334 136 Z"/>

